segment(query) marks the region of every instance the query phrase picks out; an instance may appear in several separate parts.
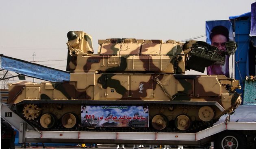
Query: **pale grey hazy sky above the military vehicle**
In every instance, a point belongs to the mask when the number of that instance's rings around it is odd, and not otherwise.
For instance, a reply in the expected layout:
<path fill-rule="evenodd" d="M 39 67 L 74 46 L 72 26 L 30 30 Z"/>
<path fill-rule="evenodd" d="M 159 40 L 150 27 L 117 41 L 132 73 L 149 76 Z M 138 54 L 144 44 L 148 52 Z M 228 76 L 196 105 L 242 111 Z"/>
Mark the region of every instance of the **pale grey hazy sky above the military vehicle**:
<path fill-rule="evenodd" d="M 65 70 L 67 32 L 98 39 L 186 40 L 205 34 L 205 21 L 227 20 L 255 0 L 1 0 L 0 53 Z M 197 40 L 205 41 L 205 37 Z M 56 61 L 60 60 L 60 61 Z M 187 74 L 196 71 L 187 72 Z M 199 73 L 200 74 L 200 73 Z M 17 79 L 16 79 L 17 80 Z"/>

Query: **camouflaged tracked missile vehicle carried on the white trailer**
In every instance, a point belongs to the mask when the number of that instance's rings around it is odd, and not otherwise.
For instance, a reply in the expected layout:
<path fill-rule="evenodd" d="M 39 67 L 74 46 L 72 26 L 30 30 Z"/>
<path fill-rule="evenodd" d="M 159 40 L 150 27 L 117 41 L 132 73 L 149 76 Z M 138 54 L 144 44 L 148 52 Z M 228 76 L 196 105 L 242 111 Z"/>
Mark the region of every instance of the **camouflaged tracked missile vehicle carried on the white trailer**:
<path fill-rule="evenodd" d="M 205 42 L 111 38 L 93 54 L 89 34 L 67 37 L 70 80 L 9 84 L 8 103 L 38 130 L 197 132 L 241 103 L 237 80 L 184 74 L 223 65 L 225 55 Z"/>

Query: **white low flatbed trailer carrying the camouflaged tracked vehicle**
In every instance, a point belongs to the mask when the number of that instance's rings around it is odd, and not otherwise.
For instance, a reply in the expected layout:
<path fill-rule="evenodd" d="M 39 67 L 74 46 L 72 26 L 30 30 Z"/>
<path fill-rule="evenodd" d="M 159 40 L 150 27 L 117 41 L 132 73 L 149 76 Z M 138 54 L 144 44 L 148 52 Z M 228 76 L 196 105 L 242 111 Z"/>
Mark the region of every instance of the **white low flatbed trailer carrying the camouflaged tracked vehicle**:
<path fill-rule="evenodd" d="M 2 103 L 1 117 L 19 130 L 19 143 L 205 145 L 214 141 L 215 149 L 256 147 L 256 122 L 222 122 L 196 133 L 38 131 Z"/>

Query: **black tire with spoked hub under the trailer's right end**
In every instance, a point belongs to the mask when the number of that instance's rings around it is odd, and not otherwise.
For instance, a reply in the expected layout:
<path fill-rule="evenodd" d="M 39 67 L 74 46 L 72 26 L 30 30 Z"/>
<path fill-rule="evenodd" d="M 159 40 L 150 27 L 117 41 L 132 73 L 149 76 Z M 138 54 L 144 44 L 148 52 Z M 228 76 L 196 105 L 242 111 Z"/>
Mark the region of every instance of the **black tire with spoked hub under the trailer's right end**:
<path fill-rule="evenodd" d="M 239 132 L 225 131 L 216 136 L 214 148 L 216 149 L 245 149 L 246 140 Z"/>

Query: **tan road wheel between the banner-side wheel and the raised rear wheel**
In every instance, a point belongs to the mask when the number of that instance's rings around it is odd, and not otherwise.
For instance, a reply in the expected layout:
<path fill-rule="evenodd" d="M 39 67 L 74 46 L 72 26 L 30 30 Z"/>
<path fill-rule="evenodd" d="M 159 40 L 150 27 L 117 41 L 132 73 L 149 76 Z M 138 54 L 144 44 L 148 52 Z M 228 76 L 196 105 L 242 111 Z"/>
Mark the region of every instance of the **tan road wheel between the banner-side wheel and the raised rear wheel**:
<path fill-rule="evenodd" d="M 187 130 L 191 125 L 191 120 L 187 115 L 178 115 L 175 119 L 175 126 L 179 130 Z"/>

